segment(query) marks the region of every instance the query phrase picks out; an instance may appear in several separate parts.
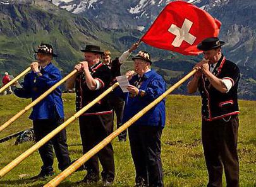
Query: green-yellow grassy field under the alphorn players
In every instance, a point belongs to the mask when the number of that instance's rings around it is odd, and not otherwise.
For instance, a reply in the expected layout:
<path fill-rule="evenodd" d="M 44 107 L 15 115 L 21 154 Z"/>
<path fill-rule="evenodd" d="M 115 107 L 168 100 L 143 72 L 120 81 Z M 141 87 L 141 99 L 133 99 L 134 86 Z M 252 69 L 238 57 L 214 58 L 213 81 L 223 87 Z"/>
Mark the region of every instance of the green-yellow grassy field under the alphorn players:
<path fill-rule="evenodd" d="M 64 94 L 66 119 L 75 111 L 75 95 Z M 0 96 L 0 122 L 3 124 L 11 116 L 30 103 L 30 99 L 15 96 Z M 240 127 L 238 135 L 238 152 L 240 158 L 240 186 L 256 186 L 256 101 L 239 101 Z M 206 186 L 207 170 L 202 151 L 200 135 L 200 98 L 197 96 L 171 95 L 167 99 L 167 123 L 162 135 L 162 162 L 164 183 L 166 186 Z M 28 120 L 28 111 L 19 120 L 1 132 L 0 138 L 14 132 L 32 127 Z M 68 145 L 71 159 L 82 156 L 82 145 L 75 121 L 67 127 Z M 32 146 L 33 142 L 14 145 L 15 139 L 0 144 L 0 167 L 3 168 L 22 152 Z M 116 164 L 116 178 L 113 186 L 134 186 L 135 169 L 130 154 L 129 142 L 113 140 Z M 47 180 L 32 181 L 30 178 L 40 172 L 38 152 L 21 162 L 19 166 L 0 179 L 0 186 L 43 186 Z M 57 161 L 54 169 L 58 174 Z M 72 174 L 59 186 L 79 186 L 76 184 L 85 176 L 85 171 Z M 81 185 L 80 185 L 81 186 Z M 102 183 L 87 186 L 102 186 Z"/>

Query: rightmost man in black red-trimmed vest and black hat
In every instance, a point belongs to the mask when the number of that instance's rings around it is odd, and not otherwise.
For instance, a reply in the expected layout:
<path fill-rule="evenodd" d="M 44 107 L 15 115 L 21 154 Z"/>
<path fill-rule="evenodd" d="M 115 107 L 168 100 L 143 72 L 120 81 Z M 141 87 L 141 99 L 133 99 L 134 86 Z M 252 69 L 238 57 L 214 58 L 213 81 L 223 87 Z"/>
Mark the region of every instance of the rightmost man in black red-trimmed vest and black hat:
<path fill-rule="evenodd" d="M 195 65 L 198 72 L 188 82 L 188 93 L 199 89 L 202 96 L 202 142 L 209 173 L 207 187 L 222 186 L 223 167 L 228 187 L 239 186 L 238 81 L 236 64 L 224 57 L 219 38 L 207 38 L 197 48 L 204 59 Z"/>

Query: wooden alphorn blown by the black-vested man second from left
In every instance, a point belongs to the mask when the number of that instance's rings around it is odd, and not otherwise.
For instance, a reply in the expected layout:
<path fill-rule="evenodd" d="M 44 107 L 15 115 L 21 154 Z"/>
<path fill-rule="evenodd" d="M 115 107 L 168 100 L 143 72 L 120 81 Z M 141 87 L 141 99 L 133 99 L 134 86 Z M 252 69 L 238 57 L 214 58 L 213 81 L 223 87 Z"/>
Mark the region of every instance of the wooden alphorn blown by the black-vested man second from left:
<path fill-rule="evenodd" d="M 30 103 L 28 106 L 26 106 L 23 110 L 19 111 L 15 116 L 13 116 L 11 119 L 9 119 L 7 122 L 5 122 L 3 125 L 0 126 L 0 132 L 3 131 L 6 127 L 8 127 L 11 123 L 15 122 L 21 115 L 23 115 L 26 111 L 30 110 L 33 106 L 37 105 L 42 99 L 46 98 L 47 95 L 49 95 L 54 89 L 56 89 L 59 85 L 61 85 L 63 82 L 68 80 L 71 76 L 73 76 L 77 71 L 73 70 L 68 74 L 66 77 L 61 79 L 61 81 L 54 84 L 51 88 L 49 88 L 45 93 L 43 93 L 39 98 L 35 99 L 32 103 Z"/>

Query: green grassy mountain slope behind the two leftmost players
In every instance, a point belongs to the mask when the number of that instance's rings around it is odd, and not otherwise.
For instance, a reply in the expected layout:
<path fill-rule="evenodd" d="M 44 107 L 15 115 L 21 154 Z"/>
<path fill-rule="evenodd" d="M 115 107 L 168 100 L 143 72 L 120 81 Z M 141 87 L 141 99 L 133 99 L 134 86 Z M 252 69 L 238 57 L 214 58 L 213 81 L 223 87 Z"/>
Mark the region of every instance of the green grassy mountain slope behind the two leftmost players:
<path fill-rule="evenodd" d="M 80 48 L 88 43 L 117 51 L 113 33 L 86 18 L 43 0 L 0 2 L 0 69 L 17 74 L 34 60 L 40 42 L 49 42 L 59 57 L 56 64 L 69 72 L 83 59 Z M 123 35 L 116 32 L 115 36 Z"/>

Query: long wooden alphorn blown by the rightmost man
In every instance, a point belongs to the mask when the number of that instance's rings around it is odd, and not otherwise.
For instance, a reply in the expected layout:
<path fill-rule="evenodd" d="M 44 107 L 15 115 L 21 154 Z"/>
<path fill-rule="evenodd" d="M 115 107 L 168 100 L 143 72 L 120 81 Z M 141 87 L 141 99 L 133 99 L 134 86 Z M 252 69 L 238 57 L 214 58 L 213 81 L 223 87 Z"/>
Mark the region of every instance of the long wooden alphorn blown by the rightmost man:
<path fill-rule="evenodd" d="M 171 88 L 169 88 L 165 93 L 163 93 L 161 96 L 159 96 L 155 101 L 150 103 L 148 106 L 143 108 L 137 115 L 133 116 L 128 122 L 123 124 L 121 127 L 119 127 L 117 130 L 115 130 L 113 133 L 111 133 L 109 136 L 106 137 L 106 139 L 102 140 L 99 144 L 97 144 L 94 148 L 89 150 L 86 154 L 84 154 L 80 159 L 75 161 L 71 166 L 66 168 L 63 172 L 61 172 L 58 176 L 56 176 L 54 179 L 49 181 L 44 187 L 53 187 L 58 186 L 58 184 L 61 183 L 64 179 L 66 179 L 68 176 L 70 176 L 72 173 L 76 171 L 79 167 L 82 166 L 88 159 L 90 159 L 92 156 L 97 154 L 103 147 L 105 147 L 107 144 L 109 144 L 115 137 L 117 137 L 121 132 L 123 132 L 126 128 L 130 127 L 134 122 L 138 120 L 142 115 L 147 113 L 151 108 L 153 108 L 155 105 L 157 105 L 162 99 L 166 98 L 168 94 L 170 94 L 174 89 L 178 88 L 183 82 L 185 82 L 188 78 L 193 76 L 197 72 L 196 69 L 188 73 L 185 77 L 183 77 L 180 81 L 176 82 Z"/>

